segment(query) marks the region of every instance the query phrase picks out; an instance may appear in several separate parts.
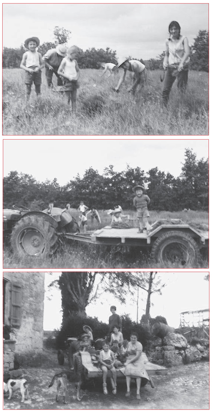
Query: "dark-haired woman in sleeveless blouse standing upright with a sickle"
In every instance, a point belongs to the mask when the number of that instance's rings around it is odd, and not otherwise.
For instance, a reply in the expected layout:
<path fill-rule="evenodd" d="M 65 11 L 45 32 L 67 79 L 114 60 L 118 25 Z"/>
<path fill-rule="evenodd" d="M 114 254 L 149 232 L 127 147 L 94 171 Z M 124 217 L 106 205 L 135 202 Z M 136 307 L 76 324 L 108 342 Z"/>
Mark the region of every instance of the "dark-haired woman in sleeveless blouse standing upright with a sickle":
<path fill-rule="evenodd" d="M 166 40 L 166 52 L 163 60 L 165 78 L 163 85 L 163 103 L 167 106 L 172 85 L 177 78 L 179 91 L 185 92 L 188 83 L 188 62 L 190 47 L 186 36 L 180 34 L 180 25 L 172 21 L 169 25 L 170 36 Z"/>

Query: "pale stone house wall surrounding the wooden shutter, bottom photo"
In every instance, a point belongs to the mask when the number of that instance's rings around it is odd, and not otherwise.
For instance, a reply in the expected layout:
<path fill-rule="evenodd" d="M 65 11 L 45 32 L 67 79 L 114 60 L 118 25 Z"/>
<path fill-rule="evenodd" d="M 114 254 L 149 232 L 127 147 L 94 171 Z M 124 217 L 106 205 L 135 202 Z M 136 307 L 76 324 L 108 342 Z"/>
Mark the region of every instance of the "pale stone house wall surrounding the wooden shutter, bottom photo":
<path fill-rule="evenodd" d="M 16 354 L 41 354 L 43 347 L 43 308 L 45 273 L 3 273 L 5 280 L 5 324 L 11 325 L 10 338 L 15 340 Z M 21 292 L 20 323 L 13 325 L 11 316 L 12 285 Z M 7 340 L 5 340 L 7 342 Z M 4 342 L 4 347 L 5 343 Z"/>

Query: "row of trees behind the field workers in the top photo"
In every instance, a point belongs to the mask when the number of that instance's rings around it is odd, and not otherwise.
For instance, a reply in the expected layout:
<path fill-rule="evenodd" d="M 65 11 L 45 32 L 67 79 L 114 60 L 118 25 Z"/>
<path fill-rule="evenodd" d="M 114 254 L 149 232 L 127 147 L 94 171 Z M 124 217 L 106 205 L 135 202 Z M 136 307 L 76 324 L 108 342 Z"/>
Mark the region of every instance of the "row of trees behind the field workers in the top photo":
<path fill-rule="evenodd" d="M 54 30 L 54 42 L 44 42 L 39 46 L 39 52 L 41 55 L 45 55 L 47 50 L 56 47 L 58 44 L 67 43 L 71 31 L 65 28 L 55 26 Z M 4 47 L 2 53 L 2 67 L 3 68 L 15 68 L 19 67 L 22 56 L 25 52 L 25 48 L 21 45 L 19 48 Z M 156 58 L 145 60 L 144 63 L 147 69 L 163 69 L 163 57 L 165 52 L 158 55 Z M 128 59 L 136 59 L 141 62 L 141 57 L 126 56 Z M 191 46 L 191 69 L 198 71 L 209 70 L 209 31 L 200 30 L 197 37 L 194 39 L 194 44 Z M 78 65 L 81 69 L 99 69 L 101 62 L 118 63 L 116 50 L 112 50 L 110 47 L 104 49 L 95 49 L 91 47 L 85 51 L 80 50 L 78 57 Z"/>

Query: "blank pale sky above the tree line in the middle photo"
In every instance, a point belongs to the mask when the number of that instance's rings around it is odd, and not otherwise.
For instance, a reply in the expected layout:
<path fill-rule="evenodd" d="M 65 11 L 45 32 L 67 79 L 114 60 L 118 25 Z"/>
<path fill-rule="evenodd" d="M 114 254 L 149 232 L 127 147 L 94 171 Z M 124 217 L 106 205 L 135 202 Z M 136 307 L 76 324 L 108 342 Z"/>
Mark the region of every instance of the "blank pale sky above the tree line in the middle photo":
<path fill-rule="evenodd" d="M 121 172 L 129 164 L 144 172 L 157 166 L 177 177 L 185 148 L 193 148 L 197 159 L 208 157 L 208 139 L 4 139 L 3 173 L 28 173 L 40 182 L 57 178 L 65 185 L 90 166 L 101 174 L 109 165 Z"/>

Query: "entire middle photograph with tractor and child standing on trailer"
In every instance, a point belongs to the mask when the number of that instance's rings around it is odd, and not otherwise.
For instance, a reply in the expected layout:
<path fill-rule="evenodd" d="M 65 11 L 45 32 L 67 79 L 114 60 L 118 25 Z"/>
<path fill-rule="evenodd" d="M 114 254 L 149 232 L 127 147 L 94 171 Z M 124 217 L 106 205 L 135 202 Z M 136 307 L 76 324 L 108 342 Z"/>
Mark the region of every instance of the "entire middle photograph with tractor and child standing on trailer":
<path fill-rule="evenodd" d="M 209 268 L 208 139 L 4 139 L 3 268 Z"/>

